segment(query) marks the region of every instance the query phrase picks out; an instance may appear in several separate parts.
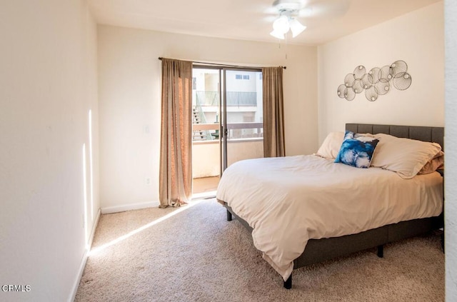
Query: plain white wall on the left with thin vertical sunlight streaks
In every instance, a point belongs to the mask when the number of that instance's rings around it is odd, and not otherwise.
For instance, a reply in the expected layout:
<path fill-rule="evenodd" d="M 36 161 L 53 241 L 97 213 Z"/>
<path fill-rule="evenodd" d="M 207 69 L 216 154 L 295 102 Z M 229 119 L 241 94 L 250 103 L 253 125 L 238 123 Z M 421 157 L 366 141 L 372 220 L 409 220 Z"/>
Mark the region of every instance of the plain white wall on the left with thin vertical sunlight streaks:
<path fill-rule="evenodd" d="M 85 0 L 1 1 L 0 11 L 0 301 L 69 301 L 94 221 L 88 196 L 84 229 L 90 109 L 99 209 L 96 24 Z"/>

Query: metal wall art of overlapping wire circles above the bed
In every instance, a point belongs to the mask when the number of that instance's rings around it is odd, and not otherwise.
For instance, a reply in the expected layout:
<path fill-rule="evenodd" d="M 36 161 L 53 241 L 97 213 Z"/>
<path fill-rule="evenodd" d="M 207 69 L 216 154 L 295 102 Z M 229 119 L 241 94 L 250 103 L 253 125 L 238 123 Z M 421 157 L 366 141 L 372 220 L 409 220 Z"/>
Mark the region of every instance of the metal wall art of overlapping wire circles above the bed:
<path fill-rule="evenodd" d="M 406 90 L 411 86 L 411 75 L 408 74 L 405 61 L 395 61 L 390 66 L 374 67 L 366 73 L 365 66 L 357 66 L 353 74 L 347 74 L 344 84 L 338 86 L 337 94 L 341 99 L 352 101 L 356 94 L 365 91 L 368 101 L 376 101 L 378 96 L 391 91 L 391 86 Z"/>

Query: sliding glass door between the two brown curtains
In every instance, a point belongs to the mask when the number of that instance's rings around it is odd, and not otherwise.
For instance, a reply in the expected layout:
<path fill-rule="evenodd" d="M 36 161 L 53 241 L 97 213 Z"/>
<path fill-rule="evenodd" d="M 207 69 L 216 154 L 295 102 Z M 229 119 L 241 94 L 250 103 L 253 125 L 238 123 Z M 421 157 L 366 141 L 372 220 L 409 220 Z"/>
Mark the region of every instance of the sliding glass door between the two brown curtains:
<path fill-rule="evenodd" d="M 192 92 L 194 192 L 215 191 L 232 163 L 263 157 L 262 74 L 194 66 Z"/>

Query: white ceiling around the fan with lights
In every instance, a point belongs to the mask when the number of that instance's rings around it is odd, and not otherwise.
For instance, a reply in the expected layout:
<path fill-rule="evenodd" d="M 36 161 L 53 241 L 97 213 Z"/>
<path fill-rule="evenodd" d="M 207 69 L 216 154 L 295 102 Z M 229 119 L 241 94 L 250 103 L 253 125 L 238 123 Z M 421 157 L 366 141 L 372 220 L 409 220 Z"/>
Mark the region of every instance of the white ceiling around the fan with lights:
<path fill-rule="evenodd" d="M 273 0 L 88 0 L 98 24 L 276 42 Z M 320 45 L 442 0 L 295 0 L 307 29 L 288 44 Z"/>

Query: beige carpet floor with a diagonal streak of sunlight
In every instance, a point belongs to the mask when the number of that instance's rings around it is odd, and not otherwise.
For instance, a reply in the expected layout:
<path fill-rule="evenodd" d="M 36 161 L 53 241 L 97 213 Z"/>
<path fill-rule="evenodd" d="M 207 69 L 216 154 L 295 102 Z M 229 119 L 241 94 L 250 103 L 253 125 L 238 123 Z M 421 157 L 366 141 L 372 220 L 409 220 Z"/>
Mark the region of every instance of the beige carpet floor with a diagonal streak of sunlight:
<path fill-rule="evenodd" d="M 298 268 L 282 285 L 211 199 L 101 216 L 76 301 L 444 301 L 440 237 Z"/>

